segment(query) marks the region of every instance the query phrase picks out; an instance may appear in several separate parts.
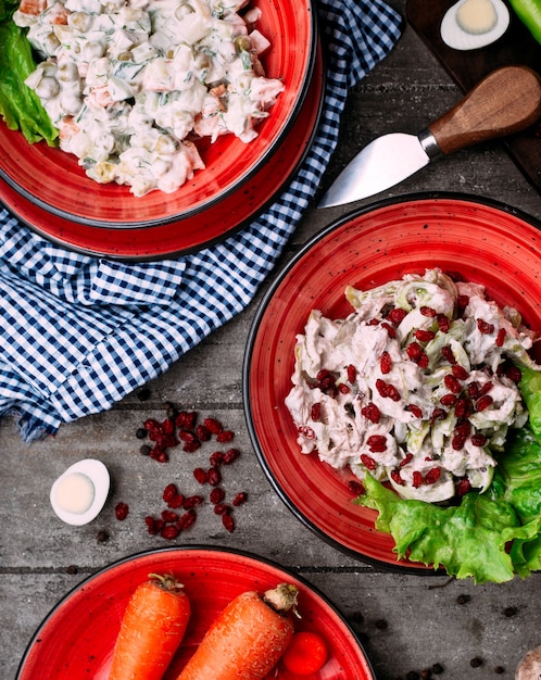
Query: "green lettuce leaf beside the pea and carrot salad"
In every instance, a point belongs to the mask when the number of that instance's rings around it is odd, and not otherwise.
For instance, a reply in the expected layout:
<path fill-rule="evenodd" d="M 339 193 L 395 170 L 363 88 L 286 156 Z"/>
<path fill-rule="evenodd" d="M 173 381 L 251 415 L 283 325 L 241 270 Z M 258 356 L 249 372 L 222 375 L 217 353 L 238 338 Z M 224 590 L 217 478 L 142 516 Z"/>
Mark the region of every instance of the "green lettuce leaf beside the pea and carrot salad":
<path fill-rule="evenodd" d="M 58 130 L 37 95 L 24 83 L 36 64 L 24 30 L 11 20 L 15 7 L 0 0 L 0 115 L 10 129 L 20 129 L 28 142 L 45 139 L 52 147 Z"/>

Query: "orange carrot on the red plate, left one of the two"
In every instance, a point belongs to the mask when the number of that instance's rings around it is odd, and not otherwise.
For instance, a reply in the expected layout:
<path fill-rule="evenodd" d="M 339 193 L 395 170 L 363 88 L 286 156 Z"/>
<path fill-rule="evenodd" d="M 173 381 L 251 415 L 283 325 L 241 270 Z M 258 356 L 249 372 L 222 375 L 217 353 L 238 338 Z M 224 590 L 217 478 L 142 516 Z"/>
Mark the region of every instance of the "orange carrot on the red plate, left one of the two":
<path fill-rule="evenodd" d="M 173 576 L 150 574 L 124 613 L 109 680 L 161 680 L 184 638 L 190 601 Z"/>

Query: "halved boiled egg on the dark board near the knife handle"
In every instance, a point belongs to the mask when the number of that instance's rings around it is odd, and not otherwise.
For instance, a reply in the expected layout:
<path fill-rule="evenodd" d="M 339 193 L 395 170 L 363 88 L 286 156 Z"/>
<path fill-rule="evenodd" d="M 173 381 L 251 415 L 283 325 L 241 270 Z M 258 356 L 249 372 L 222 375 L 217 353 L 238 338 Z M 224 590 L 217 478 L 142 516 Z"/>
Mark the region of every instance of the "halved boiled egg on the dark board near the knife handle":
<path fill-rule="evenodd" d="M 441 38 L 455 50 L 476 50 L 501 38 L 509 21 L 502 0 L 458 0 L 443 16 Z"/>

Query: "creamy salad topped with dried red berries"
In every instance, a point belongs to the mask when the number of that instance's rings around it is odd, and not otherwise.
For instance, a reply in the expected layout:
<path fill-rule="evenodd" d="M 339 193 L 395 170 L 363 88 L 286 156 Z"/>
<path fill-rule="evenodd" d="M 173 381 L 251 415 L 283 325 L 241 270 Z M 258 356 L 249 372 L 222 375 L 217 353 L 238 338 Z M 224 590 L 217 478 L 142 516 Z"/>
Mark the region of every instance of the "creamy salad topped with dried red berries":
<path fill-rule="evenodd" d="M 439 268 L 345 297 L 347 318 L 312 311 L 297 337 L 286 405 L 301 451 L 405 499 L 487 490 L 508 429 L 528 420 L 519 366 L 541 370 L 519 314 Z"/>

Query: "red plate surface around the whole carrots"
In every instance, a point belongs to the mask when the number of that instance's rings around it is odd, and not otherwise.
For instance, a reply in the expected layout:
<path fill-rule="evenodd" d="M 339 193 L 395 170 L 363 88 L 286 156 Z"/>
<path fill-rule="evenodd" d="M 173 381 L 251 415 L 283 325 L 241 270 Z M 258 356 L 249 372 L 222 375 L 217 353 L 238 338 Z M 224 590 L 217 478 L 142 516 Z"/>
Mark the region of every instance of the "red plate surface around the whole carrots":
<path fill-rule="evenodd" d="M 306 680 L 374 680 L 361 643 L 335 606 L 313 587 L 279 566 L 248 553 L 212 547 L 172 547 L 117 562 L 80 583 L 35 633 L 16 680 L 106 680 L 127 601 L 149 574 L 173 574 L 184 583 L 192 615 L 164 680 L 174 680 L 214 618 L 236 595 L 289 582 L 299 588 L 298 630 L 324 635 L 329 658 Z M 294 680 L 280 666 L 268 680 Z"/>

